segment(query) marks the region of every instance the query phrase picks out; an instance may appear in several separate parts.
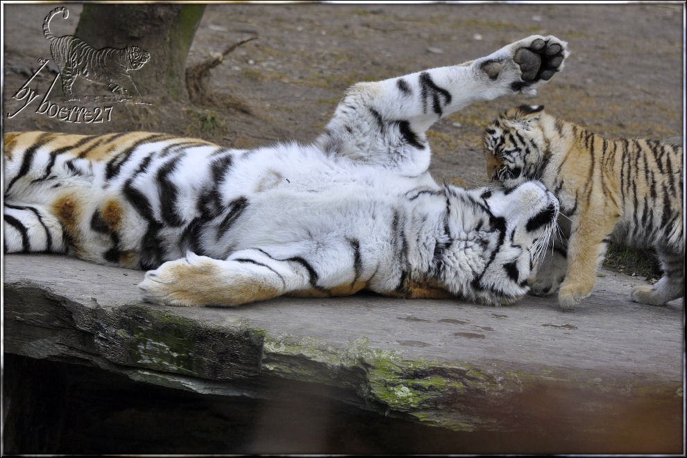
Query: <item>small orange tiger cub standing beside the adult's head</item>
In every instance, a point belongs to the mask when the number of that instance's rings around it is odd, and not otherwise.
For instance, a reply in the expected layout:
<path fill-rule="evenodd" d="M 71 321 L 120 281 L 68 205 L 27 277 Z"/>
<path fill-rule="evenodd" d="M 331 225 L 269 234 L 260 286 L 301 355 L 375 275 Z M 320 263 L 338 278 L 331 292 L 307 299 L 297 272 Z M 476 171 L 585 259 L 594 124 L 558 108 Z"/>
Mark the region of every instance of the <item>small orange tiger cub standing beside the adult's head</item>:
<path fill-rule="evenodd" d="M 633 301 L 663 305 L 682 297 L 682 146 L 607 139 L 543 109 L 510 109 L 484 133 L 487 174 L 506 188 L 541 180 L 567 216 L 559 218 L 559 225 L 568 240 L 556 240 L 548 249 L 532 292 L 550 294 L 560 285 L 559 304 L 573 308 L 591 293 L 596 269 L 613 240 L 653 245 L 661 260 L 660 281 L 633 288 Z"/>

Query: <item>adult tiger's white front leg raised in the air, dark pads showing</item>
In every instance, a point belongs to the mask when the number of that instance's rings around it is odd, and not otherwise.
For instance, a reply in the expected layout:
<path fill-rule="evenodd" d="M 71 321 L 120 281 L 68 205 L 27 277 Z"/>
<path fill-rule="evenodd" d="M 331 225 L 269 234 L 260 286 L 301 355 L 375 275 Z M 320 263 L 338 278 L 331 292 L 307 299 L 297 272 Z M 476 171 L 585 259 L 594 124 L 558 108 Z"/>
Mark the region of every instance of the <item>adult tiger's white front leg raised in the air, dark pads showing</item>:
<path fill-rule="evenodd" d="M 536 94 L 538 85 L 563 69 L 566 45 L 551 35 L 532 35 L 464 64 L 359 82 L 317 142 L 330 156 L 421 175 L 430 164 L 425 131 L 433 123 L 471 103 Z"/>

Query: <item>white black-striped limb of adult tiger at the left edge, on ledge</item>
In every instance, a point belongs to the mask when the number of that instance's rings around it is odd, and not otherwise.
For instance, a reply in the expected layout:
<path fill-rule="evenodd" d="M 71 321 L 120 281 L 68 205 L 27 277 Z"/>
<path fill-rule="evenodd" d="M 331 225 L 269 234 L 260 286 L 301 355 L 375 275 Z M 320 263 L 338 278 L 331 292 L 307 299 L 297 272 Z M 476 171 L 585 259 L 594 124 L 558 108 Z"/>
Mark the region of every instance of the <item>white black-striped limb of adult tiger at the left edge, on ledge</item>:
<path fill-rule="evenodd" d="M 3 206 L 3 248 L 6 253 L 66 253 L 62 224 L 42 206 Z"/>

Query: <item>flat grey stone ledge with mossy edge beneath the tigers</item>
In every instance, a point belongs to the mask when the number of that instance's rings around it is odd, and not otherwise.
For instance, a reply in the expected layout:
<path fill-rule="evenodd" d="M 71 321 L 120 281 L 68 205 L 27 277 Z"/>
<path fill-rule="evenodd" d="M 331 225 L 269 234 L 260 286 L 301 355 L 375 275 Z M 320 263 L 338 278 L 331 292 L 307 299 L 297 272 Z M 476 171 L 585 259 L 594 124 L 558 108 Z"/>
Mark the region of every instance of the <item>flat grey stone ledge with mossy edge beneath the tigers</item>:
<path fill-rule="evenodd" d="M 224 396 L 323 384 L 345 403 L 461 431 L 546 432 L 555 415 L 584 432 L 653 403 L 682 425 L 683 301 L 632 303 L 641 281 L 614 272 L 574 312 L 554 297 L 153 306 L 135 286 L 143 272 L 48 255 L 7 255 L 3 275 L 5 351 L 17 355 Z"/>

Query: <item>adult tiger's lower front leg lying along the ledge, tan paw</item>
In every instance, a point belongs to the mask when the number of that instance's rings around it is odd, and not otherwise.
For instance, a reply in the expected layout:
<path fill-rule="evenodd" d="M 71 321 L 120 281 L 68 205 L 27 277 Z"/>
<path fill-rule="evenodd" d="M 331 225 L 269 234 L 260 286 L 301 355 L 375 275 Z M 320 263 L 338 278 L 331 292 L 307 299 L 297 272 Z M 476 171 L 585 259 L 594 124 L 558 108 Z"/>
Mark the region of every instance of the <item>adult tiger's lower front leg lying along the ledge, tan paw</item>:
<path fill-rule="evenodd" d="M 303 247 L 300 247 L 303 248 Z M 357 245 L 334 244 L 326 252 L 299 256 L 288 247 L 241 249 L 226 261 L 187 254 L 146 272 L 144 300 L 168 306 L 238 306 L 284 294 L 329 297 L 354 294 L 373 272 L 364 272 Z M 331 263 L 332 258 L 350 263 Z M 363 280 L 365 278 L 365 280 Z"/>

